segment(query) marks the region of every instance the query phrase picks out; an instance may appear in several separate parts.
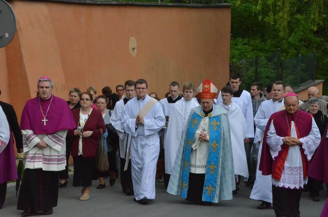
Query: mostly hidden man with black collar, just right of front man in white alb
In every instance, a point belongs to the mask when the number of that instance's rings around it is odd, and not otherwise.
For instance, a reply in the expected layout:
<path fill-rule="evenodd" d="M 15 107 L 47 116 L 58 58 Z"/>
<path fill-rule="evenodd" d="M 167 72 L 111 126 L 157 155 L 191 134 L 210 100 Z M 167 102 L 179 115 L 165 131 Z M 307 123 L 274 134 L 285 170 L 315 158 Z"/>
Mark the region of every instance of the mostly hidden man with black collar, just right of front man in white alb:
<path fill-rule="evenodd" d="M 165 118 L 166 118 L 166 126 L 168 126 L 168 124 L 169 124 L 169 119 L 170 119 L 170 116 L 171 116 L 171 112 L 173 110 L 173 105 L 182 98 L 179 95 L 179 93 L 180 93 L 180 84 L 176 81 L 171 82 L 170 86 L 169 86 L 169 92 L 170 92 L 169 97 L 159 100 L 159 102 L 160 102 L 160 104 L 163 108 Z M 169 141 L 165 140 L 166 139 L 166 134 L 167 134 L 167 129 L 164 128 L 163 129 L 163 135 L 162 135 L 164 155 L 165 155 L 166 146 L 170 145 L 170 144 L 168 144 Z M 165 160 L 166 159 L 164 158 L 164 163 L 165 163 Z M 169 180 L 170 180 L 170 174 L 165 172 L 165 174 L 163 175 L 163 178 L 164 178 L 164 185 L 167 188 L 168 184 L 169 184 Z"/>

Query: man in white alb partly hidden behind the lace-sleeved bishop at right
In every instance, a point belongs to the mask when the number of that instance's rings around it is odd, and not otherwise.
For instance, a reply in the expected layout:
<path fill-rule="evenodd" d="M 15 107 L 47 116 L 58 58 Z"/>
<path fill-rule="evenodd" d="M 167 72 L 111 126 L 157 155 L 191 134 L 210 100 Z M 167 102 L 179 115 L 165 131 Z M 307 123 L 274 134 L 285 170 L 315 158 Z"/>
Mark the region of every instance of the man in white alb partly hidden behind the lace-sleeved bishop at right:
<path fill-rule="evenodd" d="M 256 134 L 261 134 L 260 146 L 257 155 L 257 168 L 256 168 L 256 179 L 250 195 L 251 199 L 260 200 L 261 204 L 258 209 L 270 208 L 272 203 L 272 182 L 271 176 L 263 176 L 262 172 L 258 170 L 259 162 L 261 159 L 262 150 L 262 139 L 266 124 L 270 116 L 278 111 L 284 110 L 284 94 L 285 94 L 285 84 L 283 81 L 276 81 L 272 85 L 270 100 L 266 100 L 261 103 L 254 117 L 254 122 L 256 126 Z M 258 133 L 257 133 L 258 132 Z M 259 139 L 256 139 L 256 141 Z"/>

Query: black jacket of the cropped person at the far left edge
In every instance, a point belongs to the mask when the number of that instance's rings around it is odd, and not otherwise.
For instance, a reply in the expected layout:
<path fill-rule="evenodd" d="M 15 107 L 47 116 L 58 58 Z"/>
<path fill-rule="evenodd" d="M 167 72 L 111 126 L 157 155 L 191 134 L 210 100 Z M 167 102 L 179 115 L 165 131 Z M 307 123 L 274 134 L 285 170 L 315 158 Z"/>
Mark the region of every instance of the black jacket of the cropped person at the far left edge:
<path fill-rule="evenodd" d="M 17 121 L 17 116 L 14 107 L 11 104 L 8 104 L 3 101 L 0 101 L 0 106 L 3 108 L 9 123 L 9 127 L 14 133 L 16 148 L 17 150 L 19 150 L 23 148 L 23 136 L 22 136 L 21 128 L 19 127 Z"/>

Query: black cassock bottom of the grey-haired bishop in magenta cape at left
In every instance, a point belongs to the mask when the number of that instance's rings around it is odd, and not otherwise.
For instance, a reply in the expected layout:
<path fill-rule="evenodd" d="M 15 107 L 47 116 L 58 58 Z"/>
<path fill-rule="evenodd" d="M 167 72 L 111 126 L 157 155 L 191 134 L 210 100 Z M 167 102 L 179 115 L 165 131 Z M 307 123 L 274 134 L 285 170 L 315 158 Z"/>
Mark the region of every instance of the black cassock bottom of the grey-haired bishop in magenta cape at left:
<path fill-rule="evenodd" d="M 34 211 L 46 211 L 57 206 L 58 172 L 42 169 L 25 169 L 17 209 L 33 208 Z"/>

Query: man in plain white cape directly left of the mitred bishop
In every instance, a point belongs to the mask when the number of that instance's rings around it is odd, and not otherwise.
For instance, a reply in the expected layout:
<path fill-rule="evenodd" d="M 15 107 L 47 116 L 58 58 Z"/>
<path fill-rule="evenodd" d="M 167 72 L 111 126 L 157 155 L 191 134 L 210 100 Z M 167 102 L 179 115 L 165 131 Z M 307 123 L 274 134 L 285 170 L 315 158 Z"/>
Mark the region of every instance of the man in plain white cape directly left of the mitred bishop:
<path fill-rule="evenodd" d="M 196 100 L 193 100 L 195 86 L 187 82 L 183 86 L 183 98 L 174 104 L 168 130 L 166 133 L 165 147 L 165 173 L 171 175 L 174 160 L 176 159 L 182 133 L 185 130 L 186 123 L 192 108 L 199 106 Z"/>

